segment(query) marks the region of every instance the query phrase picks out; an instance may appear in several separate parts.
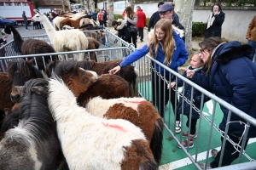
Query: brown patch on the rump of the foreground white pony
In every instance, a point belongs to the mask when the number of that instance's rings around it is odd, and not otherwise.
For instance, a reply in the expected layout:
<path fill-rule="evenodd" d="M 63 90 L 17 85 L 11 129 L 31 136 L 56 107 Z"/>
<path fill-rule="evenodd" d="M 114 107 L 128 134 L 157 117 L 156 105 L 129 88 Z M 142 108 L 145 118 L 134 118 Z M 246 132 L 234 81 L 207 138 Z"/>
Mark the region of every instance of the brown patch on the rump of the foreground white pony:
<path fill-rule="evenodd" d="M 121 162 L 122 169 L 158 169 L 158 164 L 154 161 L 152 151 L 148 147 L 145 139 L 135 139 L 131 141 L 131 147 L 125 147 L 125 158 Z M 136 160 L 136 161 L 135 161 Z"/>

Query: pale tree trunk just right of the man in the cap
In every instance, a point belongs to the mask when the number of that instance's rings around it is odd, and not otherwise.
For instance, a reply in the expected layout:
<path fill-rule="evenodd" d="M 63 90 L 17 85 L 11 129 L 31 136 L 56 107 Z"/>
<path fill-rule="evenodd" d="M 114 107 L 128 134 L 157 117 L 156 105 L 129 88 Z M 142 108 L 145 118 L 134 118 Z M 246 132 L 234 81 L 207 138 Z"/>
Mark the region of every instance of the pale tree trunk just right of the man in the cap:
<path fill-rule="evenodd" d="M 185 45 L 187 50 L 192 49 L 192 19 L 195 0 L 175 1 L 175 12 L 179 16 L 181 24 L 185 28 Z"/>

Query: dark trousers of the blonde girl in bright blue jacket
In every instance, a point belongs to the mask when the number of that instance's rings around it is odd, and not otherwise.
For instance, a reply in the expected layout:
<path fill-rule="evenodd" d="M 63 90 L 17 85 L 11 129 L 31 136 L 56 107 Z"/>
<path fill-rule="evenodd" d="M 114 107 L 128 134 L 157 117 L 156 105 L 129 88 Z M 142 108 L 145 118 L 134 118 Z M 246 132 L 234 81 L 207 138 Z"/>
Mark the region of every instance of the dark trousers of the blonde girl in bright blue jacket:
<path fill-rule="evenodd" d="M 169 101 L 169 90 L 166 82 L 163 81 L 154 71 L 152 75 L 152 101 L 153 105 L 158 108 L 161 117 L 164 117 L 165 107 Z M 169 81 L 169 75 L 166 75 L 166 80 Z M 175 113 L 175 91 L 171 88 L 171 103 L 173 113 Z M 180 121 L 180 115 L 177 114 L 176 121 Z"/>

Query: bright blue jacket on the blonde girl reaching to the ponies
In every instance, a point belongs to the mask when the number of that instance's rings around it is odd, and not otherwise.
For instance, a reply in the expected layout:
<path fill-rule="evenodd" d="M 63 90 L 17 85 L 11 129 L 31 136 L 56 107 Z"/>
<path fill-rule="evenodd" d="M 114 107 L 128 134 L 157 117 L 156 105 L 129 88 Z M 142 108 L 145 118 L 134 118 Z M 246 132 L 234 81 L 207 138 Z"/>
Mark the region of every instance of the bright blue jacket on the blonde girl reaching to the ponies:
<path fill-rule="evenodd" d="M 169 65 L 169 68 L 171 68 L 173 71 L 177 71 L 177 67 L 183 65 L 186 60 L 188 59 L 188 52 L 185 48 L 184 42 L 176 33 L 176 31 L 172 31 L 172 36 L 174 38 L 174 41 L 176 43 L 176 47 L 172 54 L 172 64 Z M 137 61 L 137 59 L 142 58 L 144 55 L 148 54 L 149 48 L 148 44 L 144 45 L 143 48 L 137 49 L 133 54 L 128 55 L 125 57 L 125 59 L 120 63 L 120 65 L 126 66 L 131 65 L 134 61 Z M 153 53 L 155 54 L 155 50 L 153 50 Z M 156 56 L 156 60 L 158 60 L 160 63 L 164 63 L 165 60 L 165 52 L 162 49 L 161 43 L 159 43 L 159 49 L 158 54 Z M 157 71 L 159 71 L 159 65 L 156 64 Z M 160 68 L 161 74 L 164 73 L 164 69 Z M 166 75 L 168 75 L 169 72 L 166 71 Z"/>

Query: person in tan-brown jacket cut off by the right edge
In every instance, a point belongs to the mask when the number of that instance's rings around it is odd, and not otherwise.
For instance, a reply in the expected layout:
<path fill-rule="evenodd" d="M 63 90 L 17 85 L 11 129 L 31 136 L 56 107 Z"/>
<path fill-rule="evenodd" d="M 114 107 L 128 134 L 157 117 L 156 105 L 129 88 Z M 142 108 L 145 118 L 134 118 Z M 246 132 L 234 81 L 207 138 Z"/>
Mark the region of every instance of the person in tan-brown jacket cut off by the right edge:
<path fill-rule="evenodd" d="M 256 15 L 248 26 L 246 38 L 248 44 L 253 47 L 252 60 L 254 59 L 253 62 L 256 64 Z"/>

